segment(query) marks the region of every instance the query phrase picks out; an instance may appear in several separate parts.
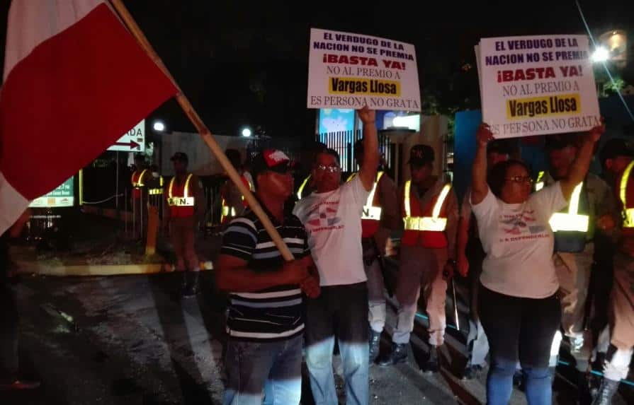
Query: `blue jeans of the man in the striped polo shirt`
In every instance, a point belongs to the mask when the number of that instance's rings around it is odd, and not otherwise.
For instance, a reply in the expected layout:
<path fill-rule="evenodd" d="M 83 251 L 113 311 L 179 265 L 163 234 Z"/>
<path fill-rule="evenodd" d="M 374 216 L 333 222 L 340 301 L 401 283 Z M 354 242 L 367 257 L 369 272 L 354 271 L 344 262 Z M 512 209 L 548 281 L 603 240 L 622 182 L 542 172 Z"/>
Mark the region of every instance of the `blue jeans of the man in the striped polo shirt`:
<path fill-rule="evenodd" d="M 302 342 L 302 335 L 263 343 L 230 339 L 225 356 L 227 385 L 222 404 L 299 404 Z"/>

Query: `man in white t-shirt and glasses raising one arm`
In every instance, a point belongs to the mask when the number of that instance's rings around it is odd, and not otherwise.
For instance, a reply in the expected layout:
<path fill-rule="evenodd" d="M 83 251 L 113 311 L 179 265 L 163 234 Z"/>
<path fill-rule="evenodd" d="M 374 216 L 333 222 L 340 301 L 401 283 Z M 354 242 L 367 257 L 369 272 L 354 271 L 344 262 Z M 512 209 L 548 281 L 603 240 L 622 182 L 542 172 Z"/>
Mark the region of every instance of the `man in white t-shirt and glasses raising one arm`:
<path fill-rule="evenodd" d="M 306 365 L 316 404 L 337 404 L 332 375 L 335 336 L 346 380 L 346 403 L 368 404 L 368 288 L 361 249 L 361 213 L 378 168 L 375 113 L 358 111 L 363 122 L 363 165 L 341 184 L 339 155 L 317 154 L 312 170 L 316 191 L 293 213 L 308 234 L 322 293 L 306 300 Z"/>

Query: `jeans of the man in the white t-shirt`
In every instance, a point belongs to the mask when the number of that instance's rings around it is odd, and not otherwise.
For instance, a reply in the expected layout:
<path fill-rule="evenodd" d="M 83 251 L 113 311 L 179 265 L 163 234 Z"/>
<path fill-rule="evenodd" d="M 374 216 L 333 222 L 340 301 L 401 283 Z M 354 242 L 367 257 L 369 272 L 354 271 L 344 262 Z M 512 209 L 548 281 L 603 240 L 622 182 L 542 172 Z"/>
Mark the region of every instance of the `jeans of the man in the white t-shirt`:
<path fill-rule="evenodd" d="M 366 283 L 322 287 L 306 300 L 306 365 L 316 405 L 338 404 L 332 375 L 335 336 L 344 366 L 346 404 L 370 400 L 368 360 L 368 289 Z"/>

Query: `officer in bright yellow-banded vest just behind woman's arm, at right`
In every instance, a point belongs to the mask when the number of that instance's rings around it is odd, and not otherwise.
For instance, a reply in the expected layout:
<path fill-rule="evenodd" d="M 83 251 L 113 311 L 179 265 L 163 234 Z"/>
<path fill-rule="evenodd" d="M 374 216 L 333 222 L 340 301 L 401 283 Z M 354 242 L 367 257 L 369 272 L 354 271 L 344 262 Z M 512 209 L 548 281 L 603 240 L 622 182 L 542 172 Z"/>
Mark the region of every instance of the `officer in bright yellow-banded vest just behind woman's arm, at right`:
<path fill-rule="evenodd" d="M 540 172 L 536 190 L 554 184 L 568 176 L 577 156 L 579 134 L 556 134 L 546 139 L 548 172 Z M 570 204 L 550 217 L 550 228 L 555 234 L 553 262 L 560 284 L 562 329 L 570 340 L 570 353 L 575 359 L 579 395 L 588 397 L 587 375 L 592 351 L 591 331 L 584 324 L 591 269 L 594 263 L 594 233 L 596 223 L 614 216 L 616 205 L 608 184 L 588 173 L 577 185 Z M 601 228 L 599 228 L 601 231 Z M 604 271 L 604 269 L 599 269 Z M 551 348 L 550 367 L 557 365 L 562 335 L 557 331 Z"/>

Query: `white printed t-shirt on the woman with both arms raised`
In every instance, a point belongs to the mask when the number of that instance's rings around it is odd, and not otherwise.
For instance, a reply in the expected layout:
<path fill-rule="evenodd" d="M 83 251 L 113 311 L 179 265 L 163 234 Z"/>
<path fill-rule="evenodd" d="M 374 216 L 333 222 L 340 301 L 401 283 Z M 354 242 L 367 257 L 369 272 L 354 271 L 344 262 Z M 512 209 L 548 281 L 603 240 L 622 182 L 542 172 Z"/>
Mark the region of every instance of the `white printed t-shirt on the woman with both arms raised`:
<path fill-rule="evenodd" d="M 506 204 L 489 189 L 473 206 L 487 257 L 480 281 L 489 290 L 523 298 L 546 298 L 559 288 L 553 264 L 555 239 L 548 219 L 567 206 L 560 183 Z"/>

